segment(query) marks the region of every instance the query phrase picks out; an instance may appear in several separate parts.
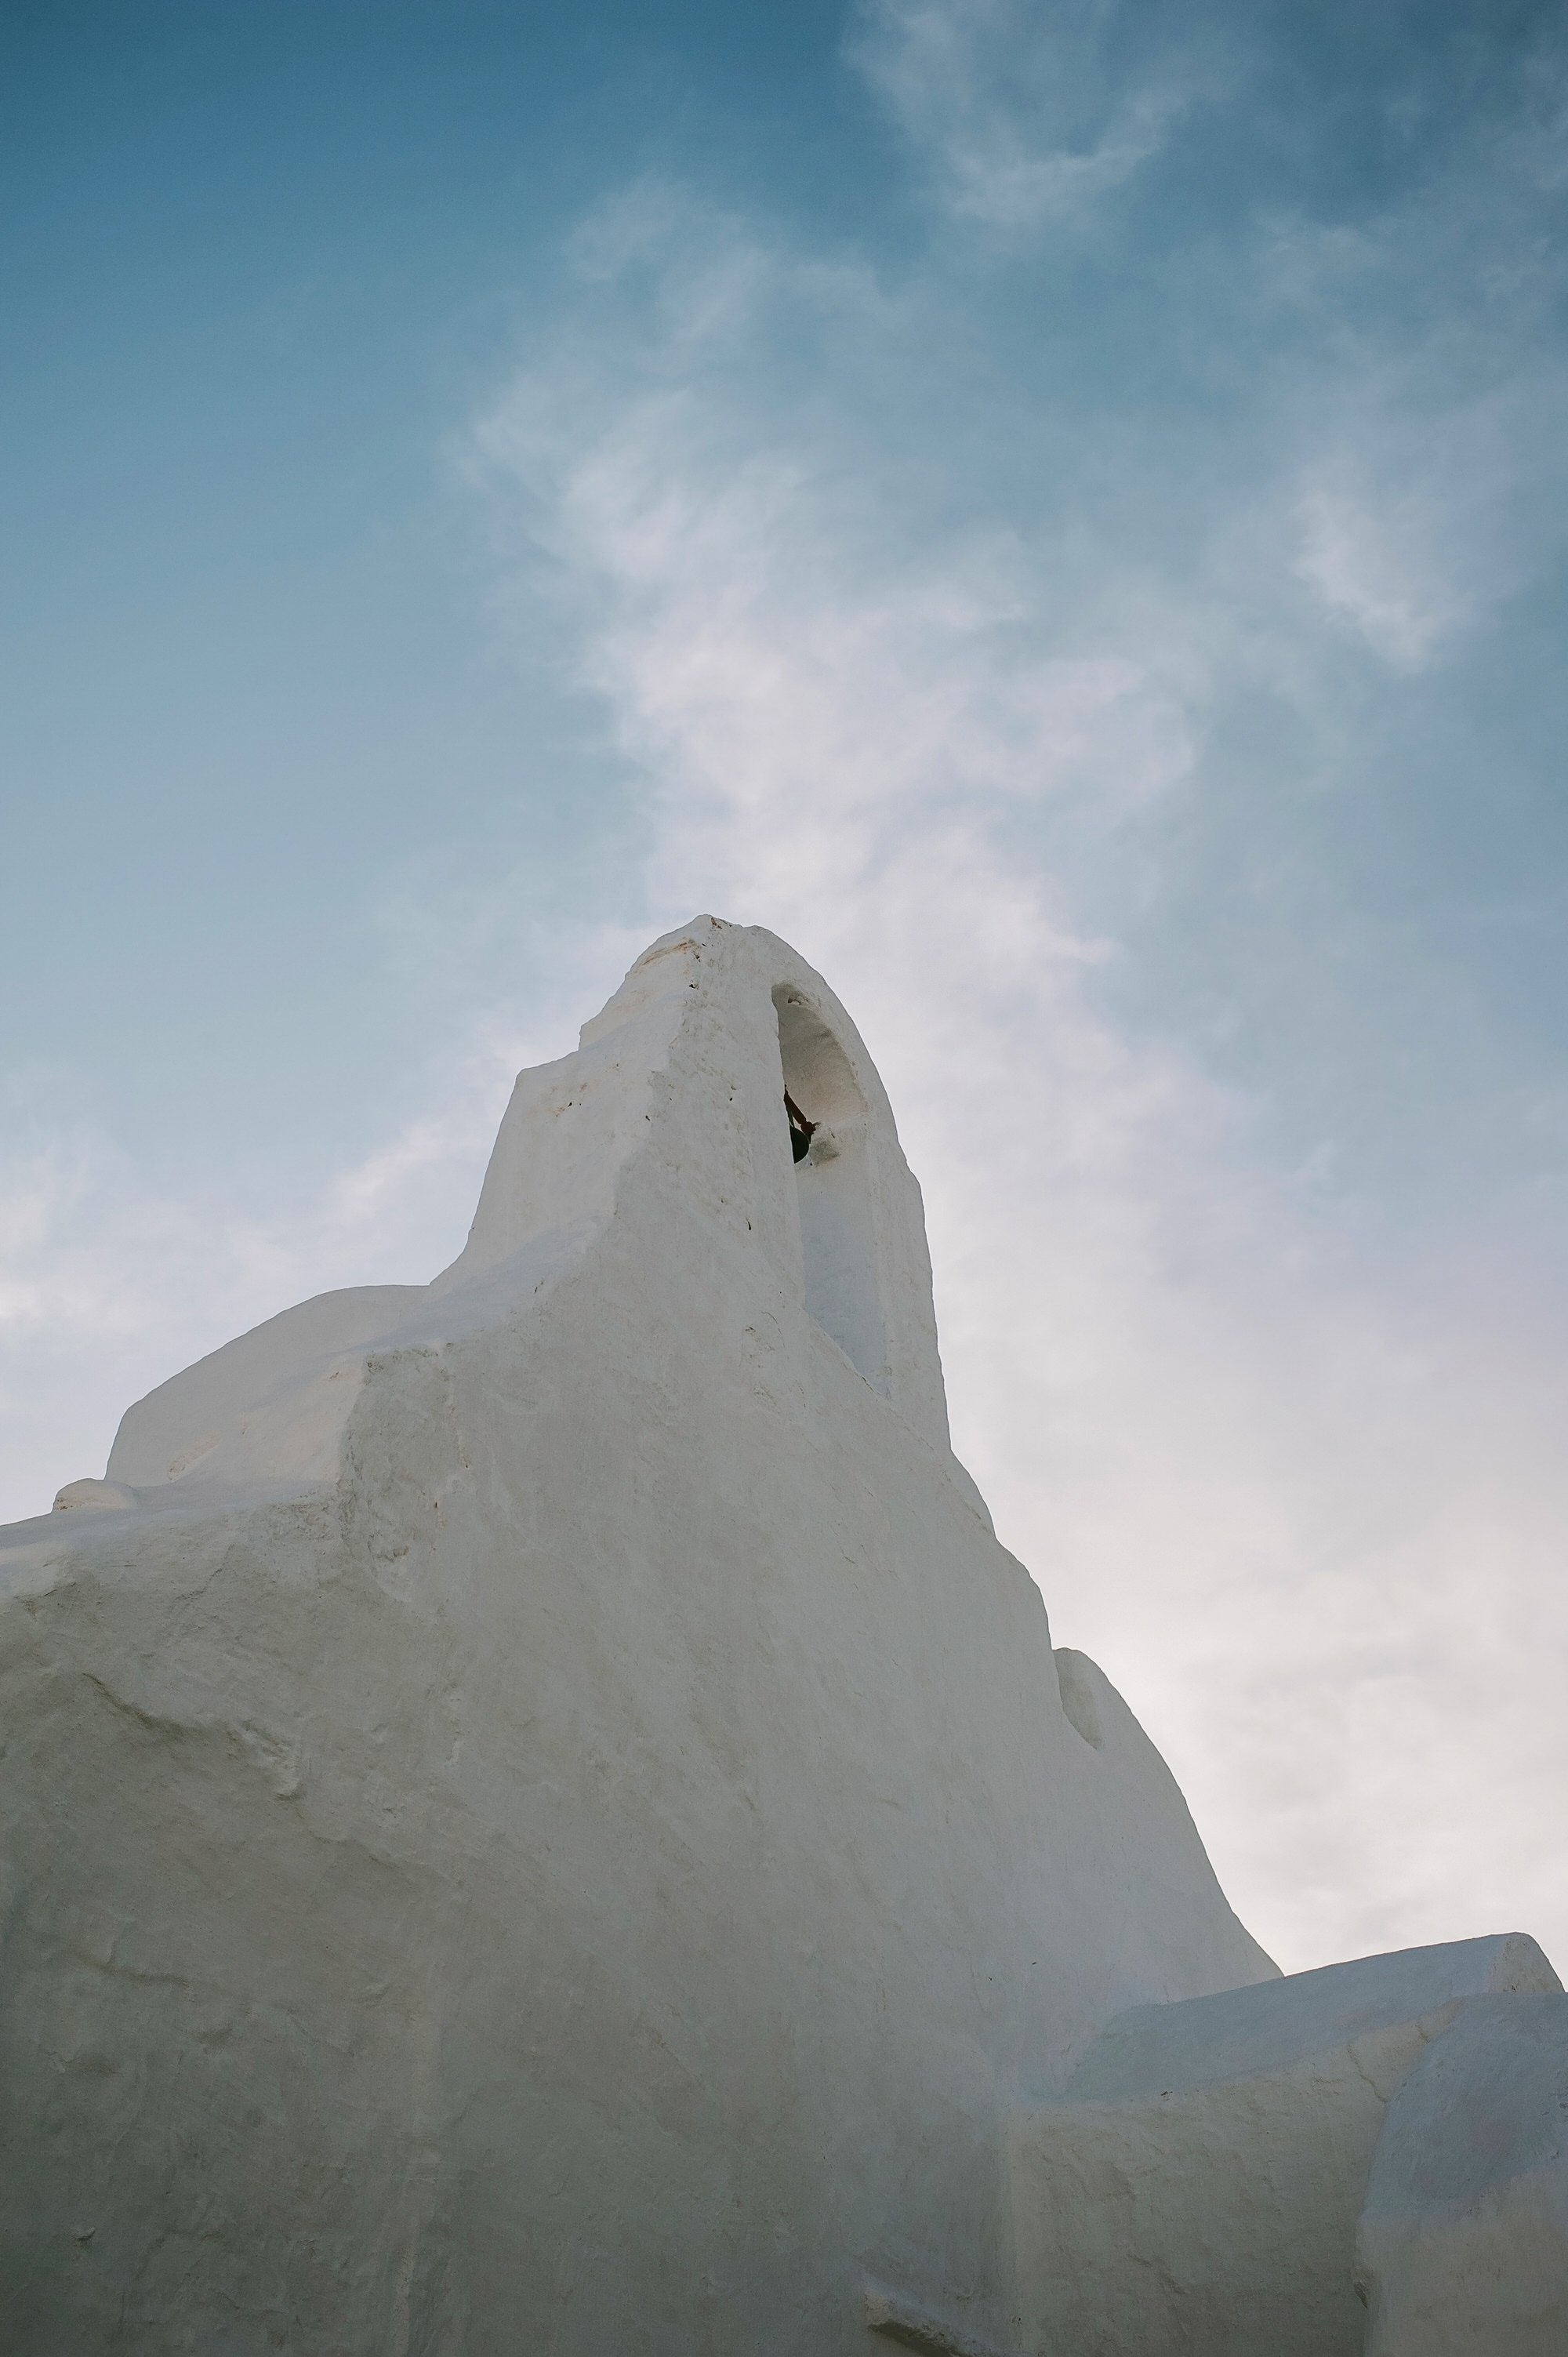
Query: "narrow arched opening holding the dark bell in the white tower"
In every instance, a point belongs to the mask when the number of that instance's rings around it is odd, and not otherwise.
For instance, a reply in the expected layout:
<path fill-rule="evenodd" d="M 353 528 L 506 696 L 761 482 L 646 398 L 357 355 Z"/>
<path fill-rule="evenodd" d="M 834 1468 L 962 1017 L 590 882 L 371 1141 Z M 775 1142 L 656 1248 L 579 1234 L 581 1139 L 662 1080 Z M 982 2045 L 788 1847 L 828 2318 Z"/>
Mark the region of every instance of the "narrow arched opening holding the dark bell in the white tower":
<path fill-rule="evenodd" d="M 816 1006 L 773 992 L 788 1138 L 799 1202 L 806 1313 L 868 1384 L 887 1393 L 887 1318 L 870 1202 L 865 1098 Z"/>

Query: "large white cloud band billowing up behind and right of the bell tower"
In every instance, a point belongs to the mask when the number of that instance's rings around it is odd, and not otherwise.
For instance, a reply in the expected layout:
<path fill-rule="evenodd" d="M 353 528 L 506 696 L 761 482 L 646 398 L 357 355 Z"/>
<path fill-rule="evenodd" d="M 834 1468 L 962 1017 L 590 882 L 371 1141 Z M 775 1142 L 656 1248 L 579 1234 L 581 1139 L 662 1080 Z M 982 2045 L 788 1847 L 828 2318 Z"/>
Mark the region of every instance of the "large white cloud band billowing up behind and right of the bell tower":
<path fill-rule="evenodd" d="M 1563 1365 L 1436 1273 L 1351 1275 L 1247 1108 L 1108 1018 L 1115 952 L 1019 834 L 1158 806 L 1214 646 L 1141 596 L 1073 618 L 1019 535 L 913 537 L 868 443 L 707 365 L 802 299 L 792 262 L 705 276 L 677 243 L 700 328 L 665 288 L 653 349 L 594 372 L 566 342 L 476 429 L 646 778 L 648 931 L 764 922 L 856 1011 L 927 1188 L 960 1450 L 1259 1933 L 1297 1966 L 1514 1921 L 1568 1945 L 1540 1798 L 1568 1768 Z M 1361 580 L 1365 629 L 1370 559 L 1337 563 L 1313 587 Z M 1419 613 L 1401 660 L 1436 643 Z"/>

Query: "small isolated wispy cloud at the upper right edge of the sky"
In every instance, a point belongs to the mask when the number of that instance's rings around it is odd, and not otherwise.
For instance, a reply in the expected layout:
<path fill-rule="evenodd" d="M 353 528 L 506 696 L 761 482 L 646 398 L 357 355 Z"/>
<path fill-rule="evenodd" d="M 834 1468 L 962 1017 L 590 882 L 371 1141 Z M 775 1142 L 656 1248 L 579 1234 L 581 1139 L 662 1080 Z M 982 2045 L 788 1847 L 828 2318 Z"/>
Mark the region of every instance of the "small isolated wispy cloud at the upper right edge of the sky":
<path fill-rule="evenodd" d="M 1391 672 L 1419 674 L 1559 561 L 1568 387 L 1518 219 L 1518 141 L 1356 224 L 1264 229 L 1257 288 L 1316 344 L 1294 405 L 1290 563 Z M 1280 467 L 1285 478 L 1287 467 Z"/>

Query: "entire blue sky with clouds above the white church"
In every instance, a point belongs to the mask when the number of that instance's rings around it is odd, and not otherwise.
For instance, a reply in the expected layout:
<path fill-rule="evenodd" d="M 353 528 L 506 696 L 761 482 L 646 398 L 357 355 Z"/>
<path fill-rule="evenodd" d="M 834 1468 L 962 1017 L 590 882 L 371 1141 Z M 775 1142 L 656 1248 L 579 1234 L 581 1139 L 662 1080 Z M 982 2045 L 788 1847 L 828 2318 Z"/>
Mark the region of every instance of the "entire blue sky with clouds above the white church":
<path fill-rule="evenodd" d="M 1547 7 L 12 7 L 0 1511 L 788 933 L 1287 1963 L 1568 1952 Z"/>

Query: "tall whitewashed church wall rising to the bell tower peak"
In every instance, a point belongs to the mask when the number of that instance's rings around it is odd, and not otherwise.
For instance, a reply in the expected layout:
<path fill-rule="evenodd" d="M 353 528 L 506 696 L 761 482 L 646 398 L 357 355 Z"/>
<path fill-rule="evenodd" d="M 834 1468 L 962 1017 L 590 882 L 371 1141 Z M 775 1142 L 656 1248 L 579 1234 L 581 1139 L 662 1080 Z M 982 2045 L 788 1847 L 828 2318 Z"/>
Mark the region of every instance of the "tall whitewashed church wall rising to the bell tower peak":
<path fill-rule="evenodd" d="M 821 976 L 698 919 L 582 1042 L 434 1285 L 0 1539 L 28 2357 L 1012 2348 L 1019 2107 L 1273 1975 L 950 1454 Z"/>

